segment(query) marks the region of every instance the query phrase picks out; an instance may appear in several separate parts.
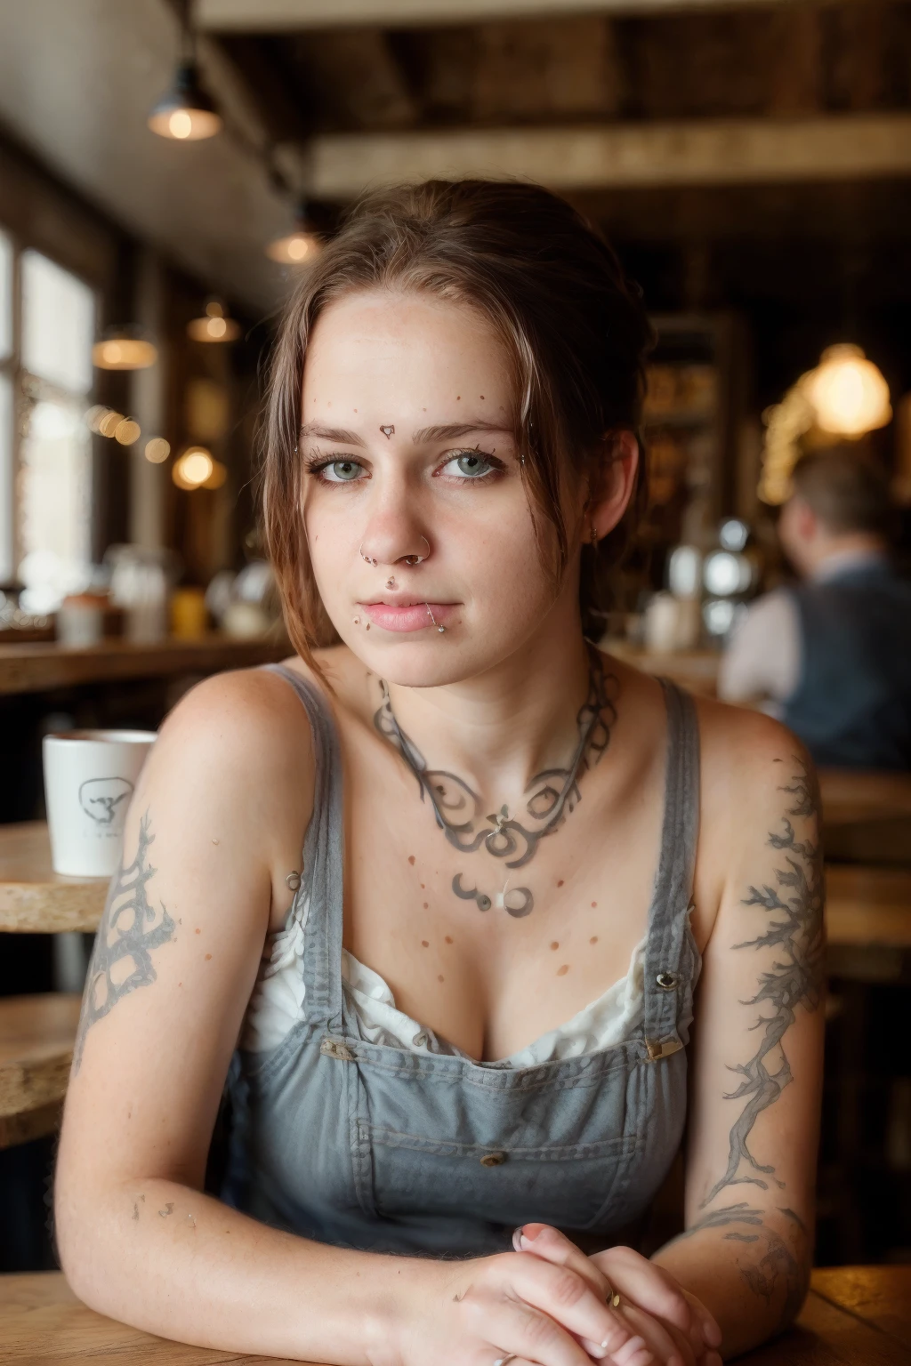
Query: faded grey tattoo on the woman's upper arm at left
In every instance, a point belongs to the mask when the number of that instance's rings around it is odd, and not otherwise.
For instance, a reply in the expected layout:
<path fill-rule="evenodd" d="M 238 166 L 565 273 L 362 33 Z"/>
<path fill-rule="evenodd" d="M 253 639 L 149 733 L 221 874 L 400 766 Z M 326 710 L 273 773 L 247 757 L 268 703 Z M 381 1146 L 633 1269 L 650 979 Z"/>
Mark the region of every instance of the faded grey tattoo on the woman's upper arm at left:
<path fill-rule="evenodd" d="M 146 882 L 156 874 L 156 869 L 148 861 L 153 840 L 146 811 L 139 821 L 139 843 L 132 863 L 124 867 L 122 856 L 120 866 L 111 878 L 82 997 L 72 1056 L 74 1076 L 79 1071 L 85 1037 L 90 1027 L 108 1015 L 123 996 L 135 992 L 137 986 L 149 986 L 154 982 L 157 974 L 152 966 L 152 949 L 175 937 L 175 922 L 164 906 L 161 919 L 152 923 L 156 921 L 156 911 L 149 906 Z"/>

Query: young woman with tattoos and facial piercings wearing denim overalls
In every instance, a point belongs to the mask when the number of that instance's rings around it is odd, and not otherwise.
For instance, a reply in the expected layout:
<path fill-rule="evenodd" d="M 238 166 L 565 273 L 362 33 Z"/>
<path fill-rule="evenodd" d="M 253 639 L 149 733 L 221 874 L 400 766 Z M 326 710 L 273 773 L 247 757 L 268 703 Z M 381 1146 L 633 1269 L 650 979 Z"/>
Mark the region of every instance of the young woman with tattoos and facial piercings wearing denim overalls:
<path fill-rule="evenodd" d="M 344 1366 L 717 1366 L 796 1314 L 810 766 L 589 643 L 647 342 L 526 184 L 374 197 L 300 285 L 264 478 L 298 653 L 164 724 L 86 988 L 56 1214 L 102 1313 Z"/>

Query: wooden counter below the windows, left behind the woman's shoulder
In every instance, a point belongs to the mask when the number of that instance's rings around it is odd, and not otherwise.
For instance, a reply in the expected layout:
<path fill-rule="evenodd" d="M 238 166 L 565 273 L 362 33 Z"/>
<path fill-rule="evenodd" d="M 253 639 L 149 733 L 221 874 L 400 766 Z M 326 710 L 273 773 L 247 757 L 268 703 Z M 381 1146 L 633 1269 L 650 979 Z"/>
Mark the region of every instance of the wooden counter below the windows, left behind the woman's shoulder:
<path fill-rule="evenodd" d="M 198 641 L 163 641 L 134 645 L 104 641 L 85 650 L 61 645 L 0 645 L 0 695 L 42 693 L 46 688 L 116 679 L 168 678 L 175 673 L 217 673 L 284 660 L 291 653 L 285 639 L 236 641 L 205 635 Z"/>

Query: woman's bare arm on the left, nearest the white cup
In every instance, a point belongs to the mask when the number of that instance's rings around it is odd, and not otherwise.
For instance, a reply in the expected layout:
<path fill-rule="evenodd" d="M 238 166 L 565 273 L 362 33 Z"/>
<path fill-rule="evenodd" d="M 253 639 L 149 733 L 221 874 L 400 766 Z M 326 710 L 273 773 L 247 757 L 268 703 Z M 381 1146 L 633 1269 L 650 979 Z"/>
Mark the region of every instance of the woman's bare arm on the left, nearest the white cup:
<path fill-rule="evenodd" d="M 213 679 L 165 723 L 89 970 L 56 1225 L 71 1284 L 102 1313 L 204 1346 L 354 1363 L 399 1268 L 265 1228 L 201 1193 L 311 791 L 306 721 L 280 680 Z M 337 1287 L 358 1277 L 352 1314 Z"/>

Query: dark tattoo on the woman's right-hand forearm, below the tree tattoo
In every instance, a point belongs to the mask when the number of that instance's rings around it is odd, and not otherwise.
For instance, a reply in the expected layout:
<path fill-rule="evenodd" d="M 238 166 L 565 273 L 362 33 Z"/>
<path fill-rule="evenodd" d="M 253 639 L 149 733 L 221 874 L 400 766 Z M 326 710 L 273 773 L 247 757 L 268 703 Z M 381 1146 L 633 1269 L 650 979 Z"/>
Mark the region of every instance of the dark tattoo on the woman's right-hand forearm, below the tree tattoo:
<path fill-rule="evenodd" d="M 731 1228 L 723 1238 L 731 1243 L 759 1244 L 748 1262 L 742 1262 L 739 1258 L 735 1259 L 740 1279 L 754 1295 L 761 1295 L 768 1305 L 772 1305 L 776 1296 L 781 1296 L 781 1313 L 776 1330 L 787 1328 L 796 1318 L 807 1294 L 810 1277 L 806 1258 L 800 1255 L 799 1246 L 809 1242 L 807 1227 L 792 1209 L 780 1208 L 779 1213 L 785 1214 L 795 1224 L 792 1247 L 788 1247 L 785 1239 L 766 1225 L 763 1210 L 753 1209 L 747 1201 L 740 1201 L 738 1205 L 725 1205 L 723 1209 L 713 1209 L 691 1228 L 687 1228 L 686 1233 L 680 1235 L 680 1238 L 692 1238 L 694 1233 L 702 1232 L 703 1228 L 728 1228 L 731 1224 L 744 1225 L 747 1232 Z M 680 1239 L 676 1240 L 679 1242 Z"/>

